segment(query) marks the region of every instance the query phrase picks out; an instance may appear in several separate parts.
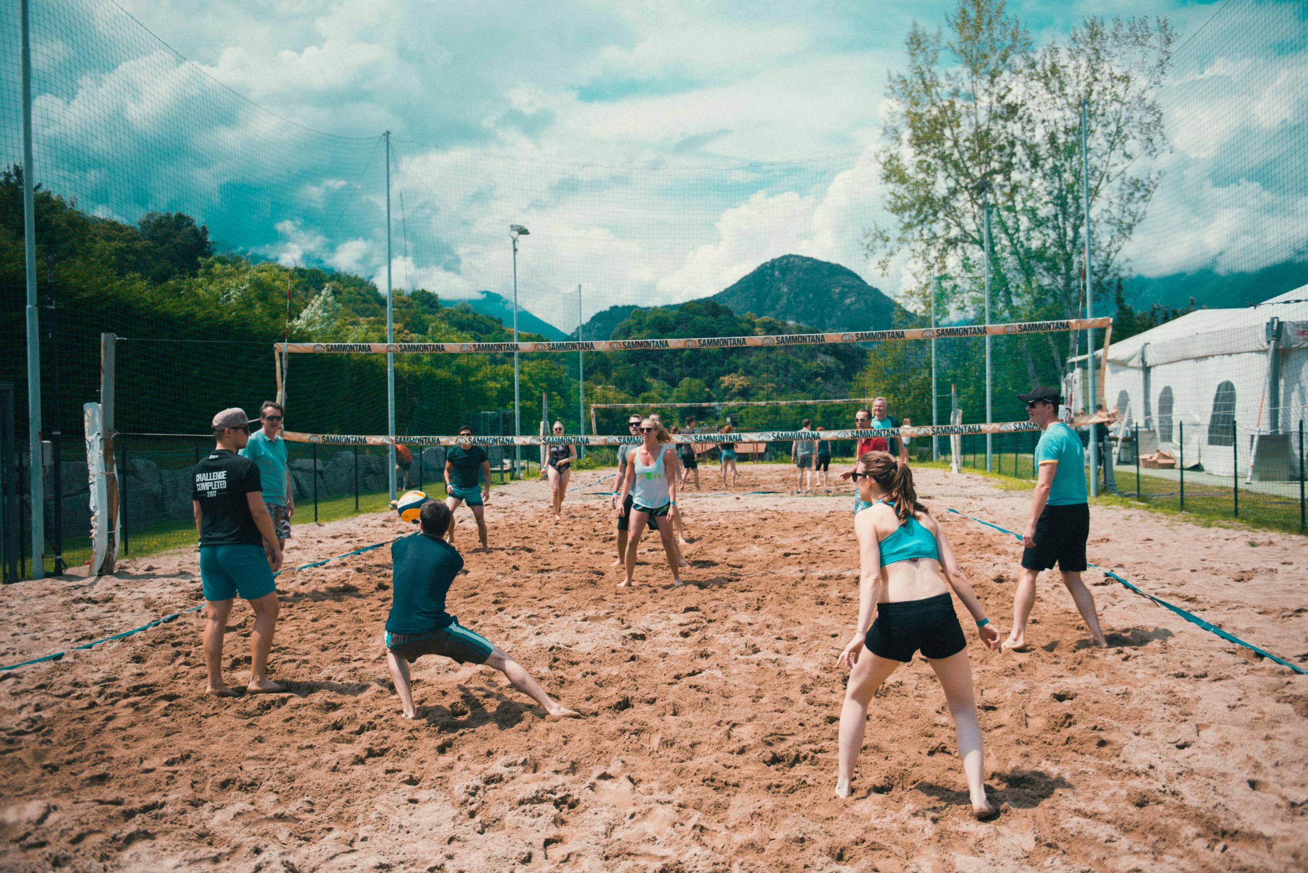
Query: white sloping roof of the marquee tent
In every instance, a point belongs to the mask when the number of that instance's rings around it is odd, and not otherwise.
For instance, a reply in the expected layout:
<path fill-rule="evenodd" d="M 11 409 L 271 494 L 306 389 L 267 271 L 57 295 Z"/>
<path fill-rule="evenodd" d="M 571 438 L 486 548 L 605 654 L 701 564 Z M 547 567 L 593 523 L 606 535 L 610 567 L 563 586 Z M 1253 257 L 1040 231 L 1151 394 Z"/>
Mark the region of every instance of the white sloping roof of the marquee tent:
<path fill-rule="evenodd" d="M 1264 329 L 1273 316 L 1283 321 L 1308 319 L 1308 285 L 1247 308 L 1197 310 L 1182 315 L 1121 342 L 1113 342 L 1108 359 L 1138 367 L 1142 363 L 1141 349 L 1146 345 L 1148 366 L 1218 354 L 1266 352 Z"/>

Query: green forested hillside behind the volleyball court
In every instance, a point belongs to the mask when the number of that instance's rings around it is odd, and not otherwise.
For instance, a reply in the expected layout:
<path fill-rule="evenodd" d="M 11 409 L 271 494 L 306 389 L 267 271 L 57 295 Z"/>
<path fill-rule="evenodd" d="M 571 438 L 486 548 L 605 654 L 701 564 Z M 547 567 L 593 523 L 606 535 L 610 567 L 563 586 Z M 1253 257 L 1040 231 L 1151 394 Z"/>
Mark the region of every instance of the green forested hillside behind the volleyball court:
<path fill-rule="evenodd" d="M 17 315 L 25 306 L 25 280 L 21 184 L 14 170 L 0 174 L 0 302 L 10 314 L 0 325 L 5 349 L 10 352 L 0 358 L 0 380 L 18 387 L 21 420 L 26 414 L 25 357 L 18 350 L 25 348 L 25 336 L 24 319 Z M 127 433 L 204 433 L 217 409 L 229 405 L 256 409 L 259 401 L 275 395 L 272 344 L 284 336 L 289 335 L 292 341 L 385 340 L 385 299 L 370 281 L 358 276 L 315 268 L 288 269 L 235 254 L 215 255 L 208 230 L 179 213 L 152 213 L 137 225 L 127 225 L 89 216 L 76 203 L 39 188 L 35 205 L 47 430 L 58 423 L 65 434 L 81 431 L 81 404 L 98 399 L 102 332 L 120 337 L 116 425 Z M 799 267 L 810 269 L 812 264 Z M 763 288 L 753 280 L 747 285 L 756 291 Z M 736 291 L 743 293 L 739 288 Z M 832 298 L 824 298 L 819 310 L 831 307 Z M 400 342 L 510 338 L 498 319 L 473 311 L 467 302 L 446 306 L 422 289 L 396 293 L 394 308 L 395 338 Z M 793 308 L 808 311 L 798 298 Z M 738 314 L 715 299 L 676 307 L 615 308 L 611 314 L 621 316 L 612 329 L 615 338 L 749 336 L 831 327 L 829 321 L 795 324 L 794 319 Z M 1118 336 L 1175 314 L 1165 307 L 1135 314 L 1120 298 Z M 897 310 L 892 321 L 867 327 L 922 323 L 903 310 Z M 527 332 L 522 336 L 542 338 Z M 1012 399 L 1016 391 L 1037 380 L 1058 379 L 1059 374 L 1046 363 L 1052 341 L 1046 336 L 995 340 L 997 420 L 1023 417 Z M 1057 342 L 1065 344 L 1066 337 L 1058 337 Z M 51 354 L 51 349 L 58 354 Z M 951 383 L 957 386 L 965 421 L 984 420 L 982 341 L 946 340 L 938 344 L 938 352 L 942 420 L 947 416 Z M 522 355 L 526 433 L 536 431 L 542 395 L 548 396 L 551 418 L 561 417 L 569 433 L 577 430 L 577 369 L 574 353 Z M 511 355 L 402 354 L 396 355 L 395 371 L 400 434 L 451 433 L 475 413 L 513 408 Z M 712 418 L 725 414 L 723 408 L 738 401 L 876 395 L 891 397 L 896 414 L 929 421 L 929 345 L 586 354 L 587 405 L 696 403 L 704 405 L 701 417 Z M 383 355 L 290 355 L 286 396 L 288 425 L 293 430 L 386 433 Z M 753 410 L 738 414 L 736 423 L 793 427 L 811 409 Z M 833 418 L 828 417 L 829 426 L 848 423 Z M 607 418 L 600 425 L 602 433 L 616 427 Z"/>

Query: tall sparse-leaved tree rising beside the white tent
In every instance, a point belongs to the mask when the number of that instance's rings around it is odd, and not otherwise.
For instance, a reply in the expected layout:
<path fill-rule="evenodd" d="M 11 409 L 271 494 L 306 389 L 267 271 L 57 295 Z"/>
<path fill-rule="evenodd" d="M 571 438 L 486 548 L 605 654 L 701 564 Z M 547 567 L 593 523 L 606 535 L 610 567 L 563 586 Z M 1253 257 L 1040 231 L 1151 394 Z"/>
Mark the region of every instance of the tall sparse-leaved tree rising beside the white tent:
<path fill-rule="evenodd" d="M 1144 214 L 1167 148 L 1156 90 L 1171 56 L 1165 20 L 1086 18 L 1066 44 L 1035 47 L 1003 0 L 959 0 L 947 31 L 914 24 L 908 67 L 889 77 L 880 154 L 891 227 L 869 231 L 884 264 L 905 252 L 927 305 L 938 274 L 946 311 L 978 308 L 984 269 L 982 191 L 991 209 L 995 319 L 1076 318 L 1082 310 L 1080 101 L 1088 101 L 1091 235 L 1096 293 L 1126 268 L 1121 251 Z M 1029 378 L 1061 371 L 1075 337 L 1022 340 Z M 1037 367 L 1032 354 L 1048 352 Z"/>

